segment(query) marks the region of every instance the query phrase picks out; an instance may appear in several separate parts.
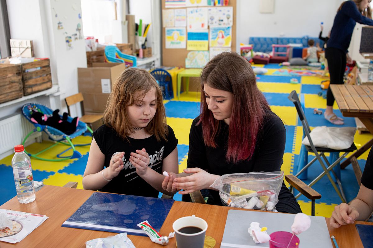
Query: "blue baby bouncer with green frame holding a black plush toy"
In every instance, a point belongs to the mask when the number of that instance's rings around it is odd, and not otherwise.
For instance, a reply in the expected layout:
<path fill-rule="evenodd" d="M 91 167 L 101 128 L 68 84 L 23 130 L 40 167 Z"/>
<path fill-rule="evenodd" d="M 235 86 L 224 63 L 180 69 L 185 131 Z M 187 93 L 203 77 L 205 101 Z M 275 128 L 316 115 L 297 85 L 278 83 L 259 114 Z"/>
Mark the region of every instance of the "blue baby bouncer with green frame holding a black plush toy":
<path fill-rule="evenodd" d="M 38 124 L 38 123 L 35 123 L 35 122 L 32 122 L 31 120 L 31 115 L 33 112 L 41 112 L 43 113 L 44 115 L 47 115 L 47 117 L 49 116 L 52 116 L 53 114 L 53 110 L 51 110 L 49 107 L 43 105 L 43 104 L 40 104 L 40 103 L 26 103 L 22 106 L 22 114 L 23 116 L 25 116 L 25 118 L 30 122 L 32 123 L 34 126 L 35 126 L 35 129 L 33 129 L 31 132 L 29 132 L 26 137 L 23 139 L 22 141 L 22 145 L 24 146 L 25 145 L 25 142 L 27 141 L 28 137 L 34 133 L 34 132 L 44 132 L 48 135 L 48 138 L 52 141 L 54 141 L 54 144 L 52 144 L 51 146 L 47 147 L 46 149 L 43 149 L 42 151 L 40 152 L 37 152 L 36 154 L 31 154 L 29 152 L 26 151 L 25 149 L 25 152 L 31 157 L 31 158 L 36 158 L 36 159 L 39 159 L 39 160 L 44 160 L 44 161 L 62 161 L 62 160 L 68 160 L 68 159 L 73 159 L 73 158 L 81 158 L 82 155 L 80 154 L 80 152 L 76 151 L 75 150 L 75 146 L 86 146 L 86 145 L 90 145 L 89 144 L 73 144 L 72 143 L 72 139 L 73 138 L 76 138 L 77 136 L 80 136 L 82 134 L 84 134 L 87 130 L 91 133 L 93 133 L 92 129 L 89 128 L 87 126 L 87 124 L 85 124 L 84 122 L 81 122 L 80 120 L 78 121 L 78 124 L 76 126 L 76 130 L 75 132 L 73 132 L 72 134 L 69 134 L 67 135 L 66 133 L 54 128 L 54 127 L 51 127 L 51 126 L 48 126 L 48 125 L 41 125 L 41 124 Z M 60 116 L 62 118 L 62 116 Z M 71 122 L 72 121 L 72 117 L 68 116 L 68 119 L 67 121 L 68 122 Z M 68 149 L 66 149 L 65 151 L 59 153 L 56 155 L 56 159 L 49 159 L 49 158 L 43 158 L 43 157 L 39 157 L 39 155 L 45 151 L 47 151 L 48 149 L 50 148 L 53 148 L 54 146 L 58 145 L 58 144 L 63 144 L 63 145 L 67 145 L 67 146 L 70 146 Z M 63 155 L 65 154 L 65 152 L 69 151 L 70 149 L 72 149 L 72 154 L 71 155 Z"/>

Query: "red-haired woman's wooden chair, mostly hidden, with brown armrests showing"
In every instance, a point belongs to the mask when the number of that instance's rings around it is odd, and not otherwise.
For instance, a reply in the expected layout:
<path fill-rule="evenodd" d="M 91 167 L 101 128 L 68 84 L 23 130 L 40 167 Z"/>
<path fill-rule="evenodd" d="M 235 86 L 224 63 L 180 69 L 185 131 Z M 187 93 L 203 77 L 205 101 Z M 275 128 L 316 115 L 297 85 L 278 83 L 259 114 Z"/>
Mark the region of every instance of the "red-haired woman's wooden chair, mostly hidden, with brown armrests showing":
<path fill-rule="evenodd" d="M 299 178 L 294 175 L 285 175 L 286 181 L 295 189 L 297 189 L 301 194 L 311 200 L 311 215 L 315 215 L 315 200 L 321 198 L 321 194 L 317 193 L 316 190 L 312 189 L 307 184 L 303 183 Z M 190 193 L 190 198 L 194 203 L 206 204 L 201 191 L 194 191 Z"/>

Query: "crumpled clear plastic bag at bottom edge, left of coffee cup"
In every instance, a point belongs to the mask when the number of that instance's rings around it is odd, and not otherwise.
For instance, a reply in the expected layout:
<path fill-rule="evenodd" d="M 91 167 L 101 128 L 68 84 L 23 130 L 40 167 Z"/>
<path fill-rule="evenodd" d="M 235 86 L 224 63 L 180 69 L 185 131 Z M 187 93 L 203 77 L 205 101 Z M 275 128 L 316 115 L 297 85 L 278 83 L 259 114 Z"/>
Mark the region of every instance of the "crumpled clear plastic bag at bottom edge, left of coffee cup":
<path fill-rule="evenodd" d="M 127 233 L 119 233 L 106 238 L 92 239 L 85 242 L 85 248 L 136 248 Z"/>

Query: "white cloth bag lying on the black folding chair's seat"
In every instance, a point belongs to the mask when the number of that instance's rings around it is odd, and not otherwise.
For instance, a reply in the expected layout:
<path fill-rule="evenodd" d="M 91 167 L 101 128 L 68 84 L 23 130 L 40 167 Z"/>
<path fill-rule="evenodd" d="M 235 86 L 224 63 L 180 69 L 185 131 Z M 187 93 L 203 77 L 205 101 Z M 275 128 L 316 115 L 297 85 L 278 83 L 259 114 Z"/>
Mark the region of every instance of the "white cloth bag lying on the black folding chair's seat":
<path fill-rule="evenodd" d="M 323 147 L 335 150 L 350 148 L 354 142 L 356 128 L 334 128 L 318 126 L 311 133 L 311 139 L 315 147 Z M 310 145 L 307 136 L 302 141 L 303 145 Z"/>

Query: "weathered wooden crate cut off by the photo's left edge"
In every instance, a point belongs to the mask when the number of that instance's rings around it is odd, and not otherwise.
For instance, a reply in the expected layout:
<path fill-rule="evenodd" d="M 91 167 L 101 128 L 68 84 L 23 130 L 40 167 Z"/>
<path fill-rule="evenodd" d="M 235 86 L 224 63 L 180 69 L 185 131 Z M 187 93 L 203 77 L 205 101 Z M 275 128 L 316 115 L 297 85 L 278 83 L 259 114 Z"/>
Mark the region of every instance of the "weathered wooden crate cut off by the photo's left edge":
<path fill-rule="evenodd" d="M 21 65 L 0 64 L 0 103 L 23 96 Z"/>

